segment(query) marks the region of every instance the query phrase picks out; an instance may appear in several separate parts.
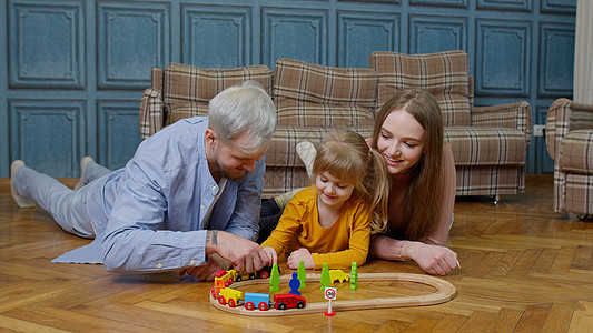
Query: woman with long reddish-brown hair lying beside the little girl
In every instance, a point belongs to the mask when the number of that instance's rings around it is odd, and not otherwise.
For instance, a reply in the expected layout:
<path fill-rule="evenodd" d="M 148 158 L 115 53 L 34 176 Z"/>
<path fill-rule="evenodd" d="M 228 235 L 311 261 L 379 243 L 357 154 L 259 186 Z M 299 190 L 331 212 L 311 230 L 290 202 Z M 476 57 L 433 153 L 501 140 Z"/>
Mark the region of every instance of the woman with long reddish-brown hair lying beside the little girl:
<path fill-rule="evenodd" d="M 412 259 L 431 274 L 457 266 L 457 254 L 444 246 L 453 222 L 455 164 L 443 141 L 441 109 L 423 90 L 392 97 L 375 120 L 369 145 L 389 172 L 389 224 L 370 242 L 370 254 L 387 260 Z"/>

